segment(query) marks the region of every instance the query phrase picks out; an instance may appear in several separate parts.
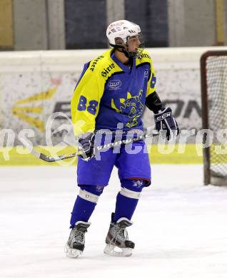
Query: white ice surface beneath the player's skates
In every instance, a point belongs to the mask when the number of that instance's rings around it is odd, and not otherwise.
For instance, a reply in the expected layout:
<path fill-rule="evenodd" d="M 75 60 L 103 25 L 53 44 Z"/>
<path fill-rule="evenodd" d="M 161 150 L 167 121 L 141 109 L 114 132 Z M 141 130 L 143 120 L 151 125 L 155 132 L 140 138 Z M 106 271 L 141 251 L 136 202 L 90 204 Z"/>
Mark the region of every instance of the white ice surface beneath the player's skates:
<path fill-rule="evenodd" d="M 201 165 L 154 165 L 134 225 L 132 257 L 103 254 L 115 196 L 114 170 L 79 259 L 66 258 L 76 168 L 0 168 L 0 277 L 227 277 L 227 188 L 203 186 Z"/>

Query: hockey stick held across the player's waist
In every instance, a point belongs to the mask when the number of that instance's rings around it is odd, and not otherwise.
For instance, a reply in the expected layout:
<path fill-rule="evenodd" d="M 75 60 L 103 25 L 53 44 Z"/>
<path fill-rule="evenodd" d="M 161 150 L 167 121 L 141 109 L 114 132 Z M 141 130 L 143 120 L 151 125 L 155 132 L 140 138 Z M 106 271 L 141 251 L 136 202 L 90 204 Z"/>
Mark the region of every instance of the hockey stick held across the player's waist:
<path fill-rule="evenodd" d="M 109 144 L 106 144 L 106 145 L 100 145 L 100 146 L 94 148 L 94 154 L 96 154 L 100 150 L 107 150 L 109 148 L 114 148 L 114 147 L 119 146 L 119 145 L 128 145 L 130 143 L 145 140 L 146 138 L 151 138 L 151 137 L 157 136 L 157 135 L 159 135 L 159 133 L 153 131 L 153 133 L 150 133 L 150 134 L 147 133 L 147 134 L 138 136 L 137 138 L 128 138 L 126 140 L 119 140 L 119 141 L 116 141 L 114 143 L 109 143 Z M 33 155 L 35 155 L 36 158 L 39 158 L 39 159 L 44 160 L 46 162 L 55 162 L 55 161 L 59 161 L 59 160 L 74 158 L 75 156 L 79 156 L 79 155 L 84 154 L 84 152 L 82 150 L 79 150 L 78 152 L 71 153 L 69 155 L 49 156 L 49 155 L 44 155 L 44 153 L 39 153 L 39 151 L 34 150 L 33 148 L 31 149 L 31 153 Z"/>

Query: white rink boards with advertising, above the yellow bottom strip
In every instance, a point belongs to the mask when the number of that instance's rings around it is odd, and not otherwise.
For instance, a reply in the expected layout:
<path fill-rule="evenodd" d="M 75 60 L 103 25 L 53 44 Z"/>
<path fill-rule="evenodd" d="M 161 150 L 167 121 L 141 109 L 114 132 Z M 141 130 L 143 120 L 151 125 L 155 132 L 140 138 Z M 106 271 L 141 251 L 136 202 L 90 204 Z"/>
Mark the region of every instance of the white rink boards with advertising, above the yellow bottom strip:
<path fill-rule="evenodd" d="M 156 69 L 157 92 L 171 106 L 182 128 L 201 128 L 200 57 L 206 48 L 148 48 Z M 19 51 L 0 53 L 0 128 L 34 130 L 31 141 L 46 145 L 45 127 L 51 113 L 70 116 L 70 101 L 84 63 L 104 50 Z M 54 121 L 52 131 L 68 120 Z M 146 126 L 153 125 L 153 115 L 144 113 Z M 62 128 L 54 143 L 62 140 Z M 0 136 L 3 136 L 1 133 Z M 1 139 L 1 138 L 0 138 Z M 14 142 L 16 144 L 16 140 Z"/>

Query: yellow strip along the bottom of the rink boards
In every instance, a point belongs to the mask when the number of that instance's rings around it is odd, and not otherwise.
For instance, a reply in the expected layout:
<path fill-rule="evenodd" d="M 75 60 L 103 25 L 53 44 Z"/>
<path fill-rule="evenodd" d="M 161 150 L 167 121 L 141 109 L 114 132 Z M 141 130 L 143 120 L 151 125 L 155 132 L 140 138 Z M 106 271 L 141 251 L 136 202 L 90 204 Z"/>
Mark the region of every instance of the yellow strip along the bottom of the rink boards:
<path fill-rule="evenodd" d="M 46 155 L 63 155 L 75 153 L 75 148 L 67 147 L 58 151 L 56 147 L 35 148 Z M 148 146 L 149 150 L 149 146 Z M 169 150 L 169 151 L 168 151 Z M 181 145 L 175 145 L 173 151 L 163 148 L 163 145 L 152 145 L 149 150 L 151 164 L 200 164 L 202 163 L 202 146 L 187 144 L 185 150 Z M 49 153 L 49 151 L 51 153 Z M 23 166 L 23 165 L 59 165 L 58 163 L 46 163 L 32 154 L 19 154 L 16 148 L 0 148 L 0 166 Z M 62 165 L 62 164 L 61 164 Z M 64 160 L 64 165 L 76 165 L 76 160 Z"/>

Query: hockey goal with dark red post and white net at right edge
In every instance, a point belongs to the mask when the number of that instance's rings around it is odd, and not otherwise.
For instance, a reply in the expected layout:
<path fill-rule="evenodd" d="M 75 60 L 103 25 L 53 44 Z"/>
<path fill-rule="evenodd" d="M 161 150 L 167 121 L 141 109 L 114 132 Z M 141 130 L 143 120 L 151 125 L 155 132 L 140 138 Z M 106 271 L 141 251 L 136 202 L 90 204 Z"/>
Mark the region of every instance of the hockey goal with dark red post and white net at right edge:
<path fill-rule="evenodd" d="M 204 184 L 227 185 L 227 51 L 201 56 L 202 124 L 211 130 L 203 149 Z M 206 141 L 207 142 L 207 141 Z"/>

